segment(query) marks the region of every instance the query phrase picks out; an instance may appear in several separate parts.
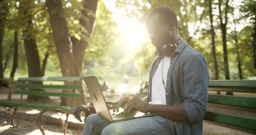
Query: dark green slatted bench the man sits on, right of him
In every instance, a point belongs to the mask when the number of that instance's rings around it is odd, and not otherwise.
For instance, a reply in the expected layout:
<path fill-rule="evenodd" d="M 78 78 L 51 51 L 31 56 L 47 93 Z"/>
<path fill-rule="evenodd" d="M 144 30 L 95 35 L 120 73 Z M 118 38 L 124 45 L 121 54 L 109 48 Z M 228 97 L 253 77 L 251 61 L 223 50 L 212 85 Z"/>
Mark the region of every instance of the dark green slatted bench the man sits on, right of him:
<path fill-rule="evenodd" d="M 256 93 L 256 80 L 210 80 L 209 91 Z M 217 113 L 211 107 L 227 109 L 227 113 Z M 231 111 L 230 111 L 231 110 Z M 232 110 L 249 112 L 252 115 L 241 116 Z M 225 112 L 225 111 L 223 111 Z M 210 123 L 256 134 L 256 97 L 208 95 L 208 109 L 203 118 Z"/>

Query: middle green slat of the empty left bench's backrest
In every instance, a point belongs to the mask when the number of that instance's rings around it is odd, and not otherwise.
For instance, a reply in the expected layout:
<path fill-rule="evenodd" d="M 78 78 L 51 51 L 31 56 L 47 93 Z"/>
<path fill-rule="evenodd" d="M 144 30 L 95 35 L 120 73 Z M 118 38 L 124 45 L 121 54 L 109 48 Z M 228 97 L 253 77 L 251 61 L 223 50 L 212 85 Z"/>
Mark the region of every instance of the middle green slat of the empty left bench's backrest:
<path fill-rule="evenodd" d="M 16 88 L 29 88 L 29 89 L 75 89 L 80 90 L 81 85 L 43 85 L 43 84 L 17 84 Z"/>

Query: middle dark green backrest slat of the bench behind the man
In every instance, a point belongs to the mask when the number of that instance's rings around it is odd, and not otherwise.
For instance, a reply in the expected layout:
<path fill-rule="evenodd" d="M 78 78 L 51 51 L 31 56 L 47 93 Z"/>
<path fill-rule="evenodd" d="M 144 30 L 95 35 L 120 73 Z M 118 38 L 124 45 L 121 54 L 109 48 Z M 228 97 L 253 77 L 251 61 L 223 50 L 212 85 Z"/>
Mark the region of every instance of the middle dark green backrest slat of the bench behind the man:
<path fill-rule="evenodd" d="M 208 95 L 208 103 L 239 106 L 256 109 L 256 97 Z"/>

